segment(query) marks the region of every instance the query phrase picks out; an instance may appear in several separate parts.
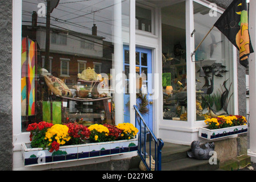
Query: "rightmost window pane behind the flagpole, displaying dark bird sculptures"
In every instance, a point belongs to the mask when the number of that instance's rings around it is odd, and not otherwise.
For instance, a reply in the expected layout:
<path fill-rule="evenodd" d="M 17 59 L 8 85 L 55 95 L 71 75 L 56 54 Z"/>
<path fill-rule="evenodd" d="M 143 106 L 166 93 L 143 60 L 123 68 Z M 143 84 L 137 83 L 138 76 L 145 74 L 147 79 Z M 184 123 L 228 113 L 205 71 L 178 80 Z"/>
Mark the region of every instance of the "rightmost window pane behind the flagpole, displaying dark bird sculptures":
<path fill-rule="evenodd" d="M 196 48 L 221 14 L 196 2 L 193 5 Z M 233 72 L 233 46 L 214 27 L 195 52 L 197 121 L 208 115 L 234 114 Z"/>

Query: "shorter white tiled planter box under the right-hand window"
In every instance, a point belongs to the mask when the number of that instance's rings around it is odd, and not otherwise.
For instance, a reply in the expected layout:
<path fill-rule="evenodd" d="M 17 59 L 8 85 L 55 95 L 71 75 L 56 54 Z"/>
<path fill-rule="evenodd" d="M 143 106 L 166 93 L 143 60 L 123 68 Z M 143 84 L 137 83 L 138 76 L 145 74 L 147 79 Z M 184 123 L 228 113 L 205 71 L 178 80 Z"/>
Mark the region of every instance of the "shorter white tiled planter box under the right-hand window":
<path fill-rule="evenodd" d="M 229 137 L 231 135 L 247 133 L 248 125 L 232 126 L 223 129 L 209 130 L 206 127 L 199 128 L 198 136 L 208 140 Z"/>

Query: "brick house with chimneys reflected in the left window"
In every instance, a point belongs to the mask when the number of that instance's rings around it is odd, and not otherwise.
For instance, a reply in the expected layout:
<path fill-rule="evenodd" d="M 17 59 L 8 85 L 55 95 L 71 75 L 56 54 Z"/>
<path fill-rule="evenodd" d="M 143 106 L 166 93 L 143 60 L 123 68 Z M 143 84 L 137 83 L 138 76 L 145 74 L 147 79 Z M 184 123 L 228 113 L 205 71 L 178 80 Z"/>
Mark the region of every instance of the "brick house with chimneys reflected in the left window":
<path fill-rule="evenodd" d="M 22 30 L 22 37 L 37 42 L 38 65 L 44 68 L 46 27 L 23 26 Z M 90 35 L 51 28 L 49 73 L 61 78 L 66 84 L 76 84 L 78 73 L 88 68 L 94 69 L 97 74 L 109 74 L 113 46 L 104 39 L 102 36 L 97 36 L 97 29 Z"/>

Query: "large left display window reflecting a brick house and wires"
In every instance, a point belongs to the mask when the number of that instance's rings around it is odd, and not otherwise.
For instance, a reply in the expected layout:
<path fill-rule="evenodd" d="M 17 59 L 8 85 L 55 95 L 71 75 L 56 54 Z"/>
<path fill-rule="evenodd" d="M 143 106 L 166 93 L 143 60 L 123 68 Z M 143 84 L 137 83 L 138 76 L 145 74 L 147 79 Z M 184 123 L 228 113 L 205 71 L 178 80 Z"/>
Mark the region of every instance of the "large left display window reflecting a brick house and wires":
<path fill-rule="evenodd" d="M 123 93 L 114 92 L 114 78 L 129 45 L 129 1 L 51 6 L 49 15 L 47 1 L 22 2 L 22 131 L 40 121 L 122 123 Z"/>

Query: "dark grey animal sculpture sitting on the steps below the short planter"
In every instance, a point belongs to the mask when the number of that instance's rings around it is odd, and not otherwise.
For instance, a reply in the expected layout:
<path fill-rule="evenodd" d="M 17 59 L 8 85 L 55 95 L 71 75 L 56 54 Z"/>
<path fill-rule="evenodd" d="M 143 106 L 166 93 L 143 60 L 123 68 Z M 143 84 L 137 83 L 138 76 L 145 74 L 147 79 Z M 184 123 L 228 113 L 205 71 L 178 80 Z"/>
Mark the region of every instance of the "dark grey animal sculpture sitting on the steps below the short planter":
<path fill-rule="evenodd" d="M 189 158 L 195 158 L 198 160 L 208 160 L 211 155 L 210 151 L 214 151 L 215 144 L 213 142 L 200 144 L 198 140 L 195 140 L 191 143 L 190 151 L 187 151 Z"/>

